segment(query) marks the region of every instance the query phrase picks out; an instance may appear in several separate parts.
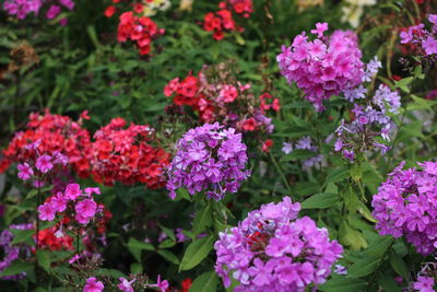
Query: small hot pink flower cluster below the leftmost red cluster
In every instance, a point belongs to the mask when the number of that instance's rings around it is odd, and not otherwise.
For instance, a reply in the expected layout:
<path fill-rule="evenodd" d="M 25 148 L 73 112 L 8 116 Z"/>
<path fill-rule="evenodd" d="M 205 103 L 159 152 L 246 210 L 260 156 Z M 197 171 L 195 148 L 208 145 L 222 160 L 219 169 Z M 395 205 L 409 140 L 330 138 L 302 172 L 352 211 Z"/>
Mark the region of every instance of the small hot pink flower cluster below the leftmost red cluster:
<path fill-rule="evenodd" d="M 82 191 L 79 184 L 69 184 L 63 192 L 59 191 L 38 207 L 39 219 L 54 221 L 57 213 L 68 211 L 74 213 L 80 224 L 86 225 L 96 212 L 103 211 L 94 201 L 93 194 L 99 195 L 99 188 L 85 188 Z"/>

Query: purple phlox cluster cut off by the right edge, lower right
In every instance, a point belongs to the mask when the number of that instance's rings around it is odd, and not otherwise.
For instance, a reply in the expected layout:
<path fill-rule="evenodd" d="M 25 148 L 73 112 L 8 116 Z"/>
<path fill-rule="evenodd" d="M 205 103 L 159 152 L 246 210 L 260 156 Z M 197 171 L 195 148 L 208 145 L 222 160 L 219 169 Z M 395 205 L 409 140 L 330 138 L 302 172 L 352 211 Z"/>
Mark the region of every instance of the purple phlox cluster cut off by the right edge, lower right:
<path fill-rule="evenodd" d="M 402 170 L 401 163 L 378 188 L 371 206 L 380 235 L 405 236 L 417 252 L 428 255 L 437 246 L 437 163 L 418 163 Z"/>

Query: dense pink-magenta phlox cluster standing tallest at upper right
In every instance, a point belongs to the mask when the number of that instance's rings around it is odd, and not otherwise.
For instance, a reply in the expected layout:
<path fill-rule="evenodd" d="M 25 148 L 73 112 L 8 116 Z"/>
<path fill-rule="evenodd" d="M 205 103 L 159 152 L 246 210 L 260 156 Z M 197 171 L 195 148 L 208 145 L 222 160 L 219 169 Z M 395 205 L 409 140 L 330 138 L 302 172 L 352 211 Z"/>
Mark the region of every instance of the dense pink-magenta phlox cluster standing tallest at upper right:
<path fill-rule="evenodd" d="M 323 110 L 322 101 L 345 90 L 357 86 L 364 75 L 364 65 L 357 37 L 352 32 L 335 32 L 323 36 L 327 23 L 318 23 L 315 40 L 305 32 L 297 35 L 291 47 L 282 47 L 276 57 L 281 74 L 288 83 L 296 82 L 306 98 L 318 112 Z"/>

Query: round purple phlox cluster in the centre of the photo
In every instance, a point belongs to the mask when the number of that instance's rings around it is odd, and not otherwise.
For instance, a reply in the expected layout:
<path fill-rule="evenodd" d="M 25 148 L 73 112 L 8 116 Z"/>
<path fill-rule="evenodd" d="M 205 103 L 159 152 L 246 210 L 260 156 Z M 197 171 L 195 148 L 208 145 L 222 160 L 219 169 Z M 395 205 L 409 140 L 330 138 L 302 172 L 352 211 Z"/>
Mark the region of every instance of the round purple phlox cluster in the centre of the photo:
<path fill-rule="evenodd" d="M 221 200 L 249 177 L 246 162 L 246 145 L 235 129 L 224 129 L 218 122 L 190 129 L 178 141 L 168 167 L 169 197 L 174 199 L 175 190 L 185 187 L 190 195 L 208 190 L 208 198 Z"/>

